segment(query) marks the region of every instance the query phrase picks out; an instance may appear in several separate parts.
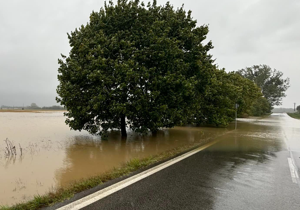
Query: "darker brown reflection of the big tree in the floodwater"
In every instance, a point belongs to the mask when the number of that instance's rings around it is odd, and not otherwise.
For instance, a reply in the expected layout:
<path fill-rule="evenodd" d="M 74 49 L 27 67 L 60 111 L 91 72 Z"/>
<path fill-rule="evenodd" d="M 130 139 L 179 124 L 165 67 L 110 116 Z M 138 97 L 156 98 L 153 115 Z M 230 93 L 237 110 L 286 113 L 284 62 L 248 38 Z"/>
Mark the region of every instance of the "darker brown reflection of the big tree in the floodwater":
<path fill-rule="evenodd" d="M 73 144 L 65 149 L 63 167 L 55 172 L 57 183 L 65 185 L 89 175 L 118 167 L 132 158 L 142 158 L 176 148 L 182 144 L 200 142 L 224 134 L 228 128 L 175 127 L 159 130 L 154 135 L 128 133 L 122 139 L 120 132 L 109 133 L 108 141 L 75 136 Z"/>

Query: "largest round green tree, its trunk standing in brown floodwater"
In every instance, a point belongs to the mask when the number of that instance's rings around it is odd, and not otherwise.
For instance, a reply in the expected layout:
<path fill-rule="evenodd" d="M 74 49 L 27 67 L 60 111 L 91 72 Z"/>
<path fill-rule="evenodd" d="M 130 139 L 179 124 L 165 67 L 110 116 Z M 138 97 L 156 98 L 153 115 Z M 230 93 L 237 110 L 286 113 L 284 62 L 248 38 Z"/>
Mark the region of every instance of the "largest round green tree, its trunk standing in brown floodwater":
<path fill-rule="evenodd" d="M 199 110 L 213 60 L 208 26 L 169 2 L 110 1 L 68 34 L 71 51 L 59 59 L 57 102 L 75 130 L 145 133 L 190 120 Z"/>

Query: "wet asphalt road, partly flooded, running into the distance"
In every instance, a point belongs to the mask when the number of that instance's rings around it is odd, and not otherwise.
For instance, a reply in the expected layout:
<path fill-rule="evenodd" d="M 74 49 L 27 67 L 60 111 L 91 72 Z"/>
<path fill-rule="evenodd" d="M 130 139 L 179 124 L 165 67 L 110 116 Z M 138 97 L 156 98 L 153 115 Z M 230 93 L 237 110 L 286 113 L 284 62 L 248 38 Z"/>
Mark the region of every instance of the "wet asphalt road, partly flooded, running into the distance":
<path fill-rule="evenodd" d="M 80 209 L 300 209 L 299 120 L 287 114 L 245 119 L 218 140 Z"/>

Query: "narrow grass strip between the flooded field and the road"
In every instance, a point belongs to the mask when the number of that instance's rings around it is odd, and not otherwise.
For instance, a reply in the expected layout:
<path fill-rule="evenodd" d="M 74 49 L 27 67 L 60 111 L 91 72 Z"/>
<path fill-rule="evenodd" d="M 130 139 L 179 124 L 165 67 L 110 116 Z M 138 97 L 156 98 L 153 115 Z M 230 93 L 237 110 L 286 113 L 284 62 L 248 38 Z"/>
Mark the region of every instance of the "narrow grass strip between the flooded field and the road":
<path fill-rule="evenodd" d="M 135 158 L 124 164 L 120 168 L 114 168 L 105 173 L 101 173 L 96 176 L 91 176 L 89 178 L 77 180 L 74 183 L 71 183 L 66 187 L 56 187 L 51 189 L 49 192 L 46 192 L 44 195 L 35 195 L 32 200 L 26 202 L 18 202 L 13 206 L 0 206 L 0 210 L 37 210 L 43 207 L 51 206 L 57 202 L 62 202 L 66 199 L 69 199 L 74 196 L 75 193 L 81 192 L 92 187 L 101 185 L 107 181 L 110 181 L 115 178 L 119 178 L 125 175 L 128 175 L 131 172 L 134 172 L 138 169 L 145 168 L 153 163 L 162 161 L 166 158 L 173 157 L 179 153 L 185 152 L 193 147 L 200 146 L 205 140 L 199 140 L 194 143 L 189 143 L 172 150 L 160 153 L 155 156 L 149 156 L 147 158 Z"/>

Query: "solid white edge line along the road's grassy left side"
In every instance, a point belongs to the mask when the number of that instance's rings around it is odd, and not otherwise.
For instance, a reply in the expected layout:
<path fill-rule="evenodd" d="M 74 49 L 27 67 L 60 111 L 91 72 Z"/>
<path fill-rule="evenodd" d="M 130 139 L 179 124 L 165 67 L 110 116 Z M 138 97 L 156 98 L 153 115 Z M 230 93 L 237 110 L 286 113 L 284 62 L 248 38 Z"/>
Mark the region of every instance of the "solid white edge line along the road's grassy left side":
<path fill-rule="evenodd" d="M 137 181 L 139 181 L 139 180 L 141 180 L 143 178 L 146 178 L 146 177 L 150 176 L 153 173 L 156 173 L 156 172 L 158 172 L 158 171 L 160 171 L 160 170 L 162 170 L 164 168 L 167 168 L 168 166 L 173 165 L 174 163 L 177 163 L 177 162 L 179 162 L 179 161 L 181 161 L 181 160 L 183 160 L 185 158 L 188 158 L 189 156 L 191 156 L 191 155 L 193 155 L 195 153 L 198 153 L 198 152 L 200 152 L 200 151 L 202 151 L 202 150 L 204 150 L 204 149 L 212 146 L 213 144 L 217 143 L 218 141 L 219 140 L 215 140 L 215 141 L 212 141 L 210 143 L 207 143 L 207 144 L 205 144 L 205 145 L 203 145 L 203 146 L 201 146 L 201 147 L 199 147 L 197 149 L 194 149 L 194 150 L 192 150 L 192 151 L 190 151 L 188 153 L 180 155 L 177 158 L 173 158 L 173 159 L 171 159 L 171 160 L 169 160 L 167 162 L 159 164 L 158 166 L 155 166 L 155 167 L 150 168 L 150 169 L 148 169 L 146 171 L 143 171 L 143 172 L 141 172 L 139 174 L 136 174 L 136 175 L 134 175 L 132 177 L 129 177 L 129 178 L 127 178 L 127 179 L 125 179 L 125 180 L 123 180 L 121 182 L 118 182 L 118 183 L 113 184 L 113 185 L 111 185 L 109 187 L 106 187 L 106 188 L 104 188 L 102 190 L 94 192 L 94 193 L 92 193 L 92 194 L 90 194 L 90 195 L 88 195 L 86 197 L 83 197 L 83 198 L 81 198 L 79 200 L 71 202 L 71 203 L 69 203 L 69 204 L 67 204 L 67 205 L 65 205 L 63 207 L 58 208 L 57 210 L 78 210 L 78 209 L 81 209 L 83 207 L 86 207 L 86 206 L 90 205 L 91 203 L 94 203 L 94 202 L 100 200 L 101 198 L 104 198 L 104 197 L 106 197 L 106 196 L 108 196 L 108 195 L 110 195 L 110 194 L 112 194 L 112 193 L 114 193 L 114 192 L 116 192 L 118 190 L 123 189 L 124 187 L 127 187 L 127 186 L 129 186 L 129 185 L 131 185 L 133 183 L 136 183 Z"/>

